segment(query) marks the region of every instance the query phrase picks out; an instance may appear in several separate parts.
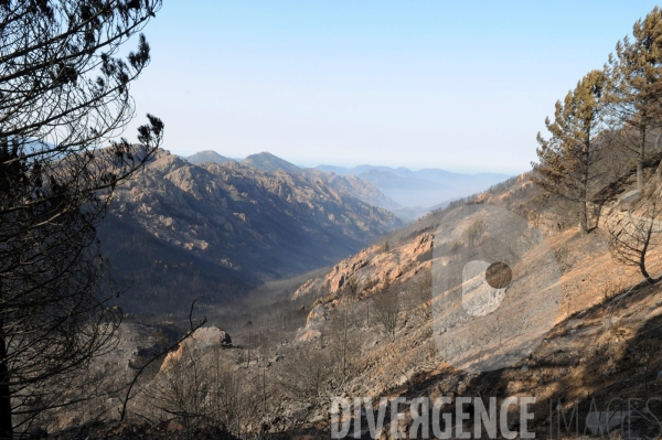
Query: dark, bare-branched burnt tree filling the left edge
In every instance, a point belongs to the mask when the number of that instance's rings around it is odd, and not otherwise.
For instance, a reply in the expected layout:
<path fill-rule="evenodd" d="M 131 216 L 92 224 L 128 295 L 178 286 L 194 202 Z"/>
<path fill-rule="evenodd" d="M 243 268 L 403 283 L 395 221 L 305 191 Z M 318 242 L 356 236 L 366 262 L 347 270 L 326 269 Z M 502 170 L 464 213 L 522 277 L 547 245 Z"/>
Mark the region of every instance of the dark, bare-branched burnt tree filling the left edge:
<path fill-rule="evenodd" d="M 148 115 L 140 144 L 114 141 L 135 114 L 129 86 L 150 50 L 140 35 L 136 52 L 116 55 L 160 7 L 0 2 L 0 438 L 79 401 L 63 397 L 64 378 L 114 341 L 107 304 L 121 289 L 100 283 L 96 229 L 163 132 Z"/>

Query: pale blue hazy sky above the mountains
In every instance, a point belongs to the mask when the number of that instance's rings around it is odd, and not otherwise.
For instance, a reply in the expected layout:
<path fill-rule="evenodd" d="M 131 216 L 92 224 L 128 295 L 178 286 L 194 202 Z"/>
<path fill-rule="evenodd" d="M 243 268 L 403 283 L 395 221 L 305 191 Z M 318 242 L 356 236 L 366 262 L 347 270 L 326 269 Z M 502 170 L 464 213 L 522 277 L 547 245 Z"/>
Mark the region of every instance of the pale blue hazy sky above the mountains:
<path fill-rule="evenodd" d="M 189 155 L 519 173 L 653 1 L 166 0 L 132 85 Z"/>

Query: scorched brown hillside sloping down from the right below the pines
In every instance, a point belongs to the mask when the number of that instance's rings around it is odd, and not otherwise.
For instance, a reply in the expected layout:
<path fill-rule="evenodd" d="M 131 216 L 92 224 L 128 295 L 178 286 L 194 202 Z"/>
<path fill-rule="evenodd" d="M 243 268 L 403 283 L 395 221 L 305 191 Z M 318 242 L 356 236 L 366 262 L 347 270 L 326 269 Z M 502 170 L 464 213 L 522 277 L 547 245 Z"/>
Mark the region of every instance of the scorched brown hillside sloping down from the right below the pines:
<path fill-rule="evenodd" d="M 640 202 L 662 193 L 662 179 L 655 171 L 659 162 L 660 155 L 648 162 L 647 186 Z M 482 396 L 487 405 L 485 397 L 501 401 L 506 397 L 535 396 L 536 403 L 530 407 L 534 417 L 528 420 L 527 430 L 535 432 L 536 438 L 546 438 L 551 427 L 556 436 L 557 422 L 563 423 L 562 417 L 569 417 L 567 411 L 574 401 L 580 411 L 579 432 L 586 428 L 587 433 L 597 433 L 591 431 L 597 429 L 595 426 L 587 428 L 587 417 L 591 411 L 605 410 L 611 398 L 643 399 L 662 393 L 662 287 L 642 283 L 637 268 L 617 262 L 610 255 L 609 235 L 605 230 L 607 217 L 623 213 L 633 203 L 632 197 L 624 195 L 632 193 L 634 184 L 634 176 L 626 173 L 600 193 L 604 215 L 595 218 L 600 221 L 598 229 L 586 236 L 579 235 L 573 225 L 560 225 L 558 211 L 564 206 L 557 206 L 558 201 L 547 200 L 545 211 L 540 212 L 541 193 L 527 174 L 510 179 L 471 200 L 455 202 L 385 235 L 381 243 L 364 247 L 327 271 L 318 270 L 309 279 L 278 281 L 242 307 L 210 314 L 212 325 L 228 330 L 232 323 L 233 345 L 214 345 L 205 335 L 222 333 L 204 330 L 169 354 L 160 367 L 154 367 L 152 376 L 140 385 L 129 410 L 140 412 L 141 408 L 148 408 L 153 396 L 168 389 L 162 388 L 168 380 L 193 393 L 186 400 L 163 403 L 167 408 L 181 405 L 181 411 L 192 411 L 193 403 L 205 396 L 206 387 L 220 387 L 222 395 L 231 393 L 234 400 L 220 414 L 212 411 L 210 417 L 232 420 L 231 423 L 236 423 L 232 425 L 233 432 L 243 433 L 239 438 L 302 440 L 329 437 L 329 404 L 333 396 L 372 397 L 375 405 L 381 397 L 410 400 Z M 499 206 L 527 218 L 527 227 L 535 224 L 542 232 L 544 245 L 553 251 L 558 269 L 555 275 L 560 293 L 558 304 L 537 311 L 549 322 L 544 339 L 527 355 L 495 371 L 458 369 L 444 357 L 436 341 L 442 329 L 435 311 L 440 297 L 434 293 L 438 280 L 433 277 L 431 266 L 452 265 L 452 260 L 444 262 L 445 257 L 435 254 L 439 250 L 434 246 L 438 238 L 435 232 L 449 213 L 461 206 Z M 490 239 L 490 235 L 489 230 L 483 232 L 476 243 Z M 513 286 L 522 280 L 537 280 L 543 286 L 547 282 L 543 275 L 551 262 L 536 256 L 538 251 L 537 245 L 528 245 L 524 256 L 512 262 Z M 662 258 L 662 249 L 654 249 L 651 258 Z M 517 300 L 530 288 L 513 288 L 509 294 L 515 294 Z M 287 294 L 289 299 L 284 297 Z M 279 302 L 274 302 L 275 299 Z M 387 310 L 395 310 L 394 326 L 388 331 L 384 320 Z M 512 322 L 522 315 L 510 309 L 508 313 Z M 163 331 L 171 329 L 170 323 L 163 325 Z M 125 331 L 129 341 L 122 345 L 121 356 L 137 362 L 135 353 L 148 352 L 154 337 L 136 344 L 134 326 Z M 463 341 L 471 337 L 474 336 Z M 185 353 L 195 357 L 184 362 Z M 113 365 L 122 368 L 125 361 L 114 359 Z M 201 376 L 191 375 L 192 371 Z M 560 400 L 566 412 L 551 415 L 549 399 Z M 118 400 L 109 399 L 102 405 L 111 411 Z M 642 412 L 644 408 L 637 405 L 636 410 Z M 662 405 L 653 401 L 649 410 L 662 415 Z M 140 414 L 159 420 L 158 414 L 152 412 Z M 369 438 L 365 417 L 362 412 L 362 438 Z M 455 415 L 450 420 L 455 426 Z M 510 429 L 519 428 L 514 408 L 505 420 Z M 639 436 L 651 434 L 656 428 L 639 416 L 632 416 L 631 422 Z M 392 423 L 387 414 L 382 438 L 394 438 L 386 434 Z M 412 423 L 405 409 L 399 431 L 408 432 Z M 472 423 L 470 411 L 462 429 L 470 431 Z M 142 426 L 122 429 L 153 432 L 164 429 Z M 618 423 L 611 427 L 613 434 L 628 437 L 627 431 L 618 432 L 619 429 Z M 562 438 L 566 437 L 574 438 L 574 431 L 564 430 Z"/>

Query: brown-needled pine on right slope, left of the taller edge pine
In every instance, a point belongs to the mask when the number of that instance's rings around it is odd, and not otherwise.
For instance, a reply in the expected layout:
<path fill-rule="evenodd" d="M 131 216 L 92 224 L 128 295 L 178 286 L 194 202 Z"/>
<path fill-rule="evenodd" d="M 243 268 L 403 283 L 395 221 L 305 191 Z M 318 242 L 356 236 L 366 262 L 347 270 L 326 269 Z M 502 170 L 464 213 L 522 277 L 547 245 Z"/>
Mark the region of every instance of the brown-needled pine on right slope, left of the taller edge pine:
<path fill-rule="evenodd" d="M 545 120 L 552 135 L 546 140 L 538 132 L 538 163 L 532 163 L 532 180 L 545 191 L 572 202 L 579 211 L 579 228 L 588 232 L 589 201 L 601 180 L 602 159 L 600 132 L 604 128 L 604 88 L 606 76 L 592 71 L 568 92 L 564 101 L 556 101 L 554 121 Z"/>

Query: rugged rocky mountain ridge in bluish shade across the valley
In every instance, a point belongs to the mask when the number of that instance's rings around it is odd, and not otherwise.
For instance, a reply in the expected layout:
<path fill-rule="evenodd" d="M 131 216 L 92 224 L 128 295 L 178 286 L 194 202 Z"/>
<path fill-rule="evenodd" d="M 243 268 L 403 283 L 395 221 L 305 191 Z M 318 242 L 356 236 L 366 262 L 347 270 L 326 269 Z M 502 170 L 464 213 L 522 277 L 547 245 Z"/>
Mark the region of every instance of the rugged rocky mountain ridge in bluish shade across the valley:
<path fill-rule="evenodd" d="M 322 179 L 161 151 L 118 189 L 100 236 L 115 273 L 134 275 L 129 309 L 162 311 L 332 264 L 398 224 Z"/>

